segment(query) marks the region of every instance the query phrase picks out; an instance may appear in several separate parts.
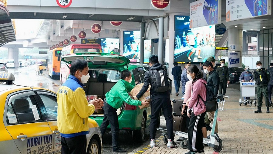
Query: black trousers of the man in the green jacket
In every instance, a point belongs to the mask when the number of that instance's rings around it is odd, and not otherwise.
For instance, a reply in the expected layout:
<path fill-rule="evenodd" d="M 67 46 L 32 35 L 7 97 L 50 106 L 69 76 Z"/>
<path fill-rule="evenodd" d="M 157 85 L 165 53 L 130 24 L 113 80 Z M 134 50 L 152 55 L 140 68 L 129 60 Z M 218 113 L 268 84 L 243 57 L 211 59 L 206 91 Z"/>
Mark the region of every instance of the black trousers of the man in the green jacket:
<path fill-rule="evenodd" d="M 103 122 L 100 125 L 100 132 L 103 135 L 107 126 L 110 124 L 111 132 L 112 132 L 112 149 L 118 150 L 120 149 L 119 140 L 119 121 L 116 114 L 116 108 L 110 106 L 106 100 L 104 101 L 103 106 Z"/>

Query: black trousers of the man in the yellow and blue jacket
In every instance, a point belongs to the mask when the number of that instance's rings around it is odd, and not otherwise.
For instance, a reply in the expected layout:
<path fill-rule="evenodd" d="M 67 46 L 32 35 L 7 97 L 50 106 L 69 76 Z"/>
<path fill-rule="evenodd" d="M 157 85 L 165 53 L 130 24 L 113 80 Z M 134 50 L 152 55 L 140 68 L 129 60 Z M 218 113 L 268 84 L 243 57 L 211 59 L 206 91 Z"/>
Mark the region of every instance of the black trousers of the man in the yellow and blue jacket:
<path fill-rule="evenodd" d="M 86 135 L 61 137 L 62 154 L 86 154 Z"/>

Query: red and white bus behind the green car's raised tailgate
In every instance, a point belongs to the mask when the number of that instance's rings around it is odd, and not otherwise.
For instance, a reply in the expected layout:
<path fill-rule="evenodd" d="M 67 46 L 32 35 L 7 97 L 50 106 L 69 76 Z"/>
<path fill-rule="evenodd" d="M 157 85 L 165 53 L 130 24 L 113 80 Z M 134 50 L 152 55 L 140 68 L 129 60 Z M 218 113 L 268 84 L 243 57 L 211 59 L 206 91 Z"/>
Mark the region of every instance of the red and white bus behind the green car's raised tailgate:
<path fill-rule="evenodd" d="M 87 53 L 87 52 L 98 52 L 101 53 L 101 46 L 100 44 L 70 44 L 62 48 L 62 55 L 71 54 L 71 53 Z M 70 67 L 70 65 L 68 65 Z M 62 83 L 66 81 L 68 78 L 70 71 L 65 62 L 61 61 L 61 68 L 60 68 L 60 80 Z"/>

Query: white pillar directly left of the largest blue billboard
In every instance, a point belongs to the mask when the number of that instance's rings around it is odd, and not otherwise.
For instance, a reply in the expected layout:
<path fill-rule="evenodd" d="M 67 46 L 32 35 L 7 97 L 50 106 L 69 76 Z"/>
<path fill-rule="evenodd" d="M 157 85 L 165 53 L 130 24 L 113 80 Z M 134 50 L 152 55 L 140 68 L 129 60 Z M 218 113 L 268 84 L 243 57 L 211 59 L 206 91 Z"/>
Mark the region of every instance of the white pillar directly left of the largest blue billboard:
<path fill-rule="evenodd" d="M 172 87 L 174 87 L 174 76 L 172 76 L 172 68 L 173 68 L 173 63 L 174 63 L 174 15 L 170 14 L 169 15 L 170 18 L 170 25 L 169 25 L 169 43 L 168 43 L 168 47 L 169 47 L 169 53 L 166 52 L 166 55 L 168 54 L 168 58 L 169 58 L 169 78 L 172 80 Z M 167 40 L 166 40 L 166 48 L 167 48 Z M 166 50 L 167 51 L 167 50 Z M 166 56 L 167 58 L 167 56 Z M 184 66 L 181 68 L 183 69 Z M 181 88 L 180 88 L 181 89 Z M 172 91 L 172 93 L 174 93 Z M 181 93 L 179 91 L 179 93 Z"/>

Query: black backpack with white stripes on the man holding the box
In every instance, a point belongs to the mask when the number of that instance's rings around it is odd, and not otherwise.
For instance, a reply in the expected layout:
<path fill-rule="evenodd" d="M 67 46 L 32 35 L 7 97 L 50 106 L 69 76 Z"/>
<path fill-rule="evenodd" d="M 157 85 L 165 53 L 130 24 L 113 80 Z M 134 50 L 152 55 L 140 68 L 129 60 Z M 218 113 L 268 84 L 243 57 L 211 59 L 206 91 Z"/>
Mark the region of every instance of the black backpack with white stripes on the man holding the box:
<path fill-rule="evenodd" d="M 150 70 L 151 88 L 153 91 L 163 93 L 169 91 L 167 72 L 164 70 Z"/>

